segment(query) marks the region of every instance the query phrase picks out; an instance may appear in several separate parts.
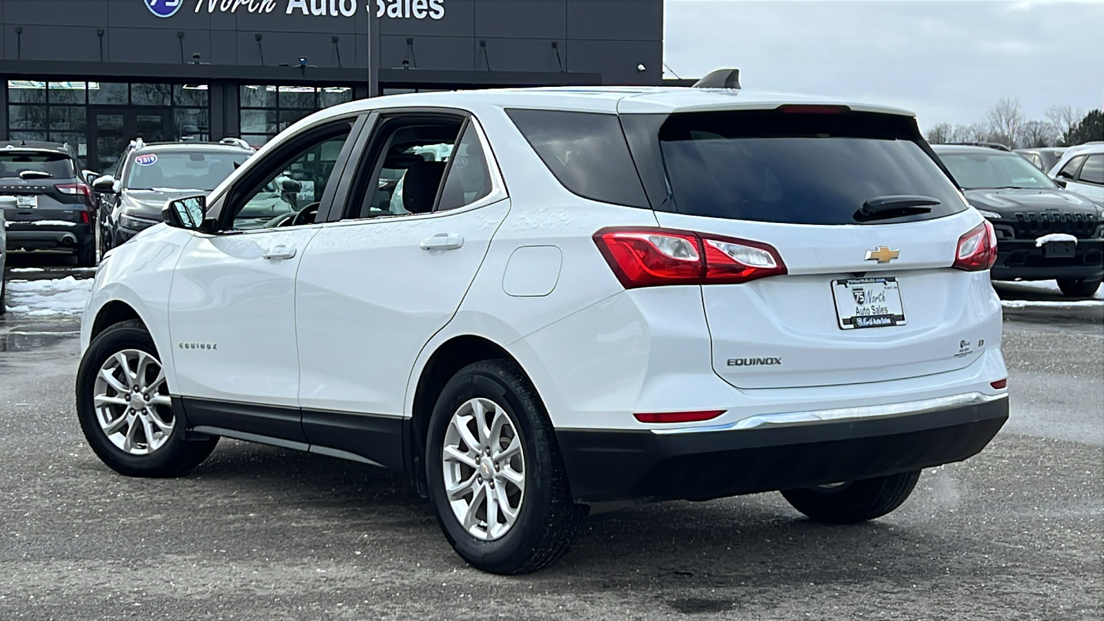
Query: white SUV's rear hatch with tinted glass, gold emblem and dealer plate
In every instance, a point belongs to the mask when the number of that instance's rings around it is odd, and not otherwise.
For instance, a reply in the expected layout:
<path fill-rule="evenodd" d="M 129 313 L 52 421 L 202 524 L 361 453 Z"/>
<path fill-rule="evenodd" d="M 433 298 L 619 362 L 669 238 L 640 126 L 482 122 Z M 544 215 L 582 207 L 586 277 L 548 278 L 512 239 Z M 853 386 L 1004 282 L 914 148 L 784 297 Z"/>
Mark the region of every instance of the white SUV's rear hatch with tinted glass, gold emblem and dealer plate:
<path fill-rule="evenodd" d="M 657 211 L 660 227 L 698 232 L 707 256 L 710 239 L 773 246 L 785 267 L 702 286 L 713 368 L 733 386 L 931 375 L 996 344 L 988 281 L 952 269 L 959 238 L 984 224 L 911 117 L 816 106 L 676 114 L 659 146 L 675 206 Z"/>

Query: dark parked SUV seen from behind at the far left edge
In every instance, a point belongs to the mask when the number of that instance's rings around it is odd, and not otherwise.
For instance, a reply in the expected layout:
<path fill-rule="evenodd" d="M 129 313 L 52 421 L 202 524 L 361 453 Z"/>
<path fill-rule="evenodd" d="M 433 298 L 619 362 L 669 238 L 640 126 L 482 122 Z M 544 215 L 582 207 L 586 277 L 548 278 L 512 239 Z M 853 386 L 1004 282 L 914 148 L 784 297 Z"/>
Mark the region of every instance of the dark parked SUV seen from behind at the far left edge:
<path fill-rule="evenodd" d="M 96 264 L 94 210 L 77 161 L 68 145 L 0 141 L 0 197 L 15 198 L 4 208 L 8 250 L 71 250 L 77 265 Z"/>

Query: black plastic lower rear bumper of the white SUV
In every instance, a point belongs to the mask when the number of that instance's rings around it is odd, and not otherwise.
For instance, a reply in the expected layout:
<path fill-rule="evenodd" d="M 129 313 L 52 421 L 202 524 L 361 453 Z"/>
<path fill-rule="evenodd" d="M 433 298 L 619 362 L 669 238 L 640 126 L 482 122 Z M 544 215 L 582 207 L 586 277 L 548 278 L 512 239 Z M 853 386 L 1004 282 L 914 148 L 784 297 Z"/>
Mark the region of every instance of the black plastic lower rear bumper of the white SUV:
<path fill-rule="evenodd" d="M 577 502 L 700 501 L 962 461 L 981 451 L 1007 419 L 1006 396 L 861 420 L 669 434 L 561 430 L 556 436 Z"/>

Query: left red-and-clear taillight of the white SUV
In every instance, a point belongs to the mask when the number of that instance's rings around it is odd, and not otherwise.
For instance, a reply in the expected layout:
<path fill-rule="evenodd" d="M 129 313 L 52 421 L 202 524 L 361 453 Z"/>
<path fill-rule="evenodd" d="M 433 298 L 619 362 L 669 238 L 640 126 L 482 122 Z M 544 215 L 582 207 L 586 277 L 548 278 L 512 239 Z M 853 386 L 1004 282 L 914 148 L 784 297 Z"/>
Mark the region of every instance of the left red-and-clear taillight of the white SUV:
<path fill-rule="evenodd" d="M 625 288 L 737 284 L 786 273 L 774 246 L 673 229 L 602 229 L 594 243 Z"/>

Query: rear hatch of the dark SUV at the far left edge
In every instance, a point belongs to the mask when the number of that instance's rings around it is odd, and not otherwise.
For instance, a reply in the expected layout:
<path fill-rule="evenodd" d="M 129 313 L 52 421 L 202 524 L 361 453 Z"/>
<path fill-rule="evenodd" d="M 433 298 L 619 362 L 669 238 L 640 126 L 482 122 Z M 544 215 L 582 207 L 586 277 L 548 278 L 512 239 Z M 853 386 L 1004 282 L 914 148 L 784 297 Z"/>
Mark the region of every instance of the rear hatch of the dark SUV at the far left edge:
<path fill-rule="evenodd" d="M 14 197 L 4 209 L 9 223 L 86 223 L 88 187 L 76 178 L 73 160 L 60 151 L 0 150 L 0 196 Z"/>

